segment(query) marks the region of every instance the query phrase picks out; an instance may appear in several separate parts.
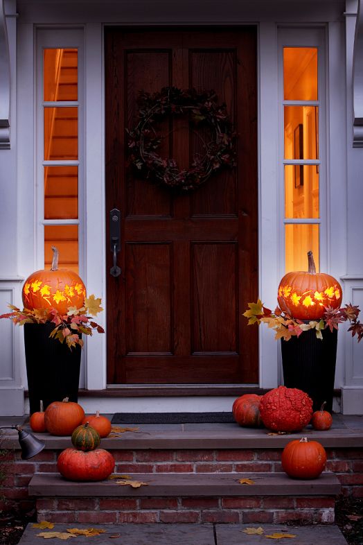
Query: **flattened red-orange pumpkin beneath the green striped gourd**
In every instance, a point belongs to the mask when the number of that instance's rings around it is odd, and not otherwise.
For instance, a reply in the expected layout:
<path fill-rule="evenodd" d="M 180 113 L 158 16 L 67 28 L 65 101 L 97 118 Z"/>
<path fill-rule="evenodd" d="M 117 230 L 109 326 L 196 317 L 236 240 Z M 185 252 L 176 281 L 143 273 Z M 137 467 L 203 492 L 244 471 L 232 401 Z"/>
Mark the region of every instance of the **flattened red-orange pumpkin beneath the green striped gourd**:
<path fill-rule="evenodd" d="M 65 449 L 57 460 L 58 471 L 69 481 L 103 481 L 114 467 L 114 457 L 104 449 L 89 452 Z"/>

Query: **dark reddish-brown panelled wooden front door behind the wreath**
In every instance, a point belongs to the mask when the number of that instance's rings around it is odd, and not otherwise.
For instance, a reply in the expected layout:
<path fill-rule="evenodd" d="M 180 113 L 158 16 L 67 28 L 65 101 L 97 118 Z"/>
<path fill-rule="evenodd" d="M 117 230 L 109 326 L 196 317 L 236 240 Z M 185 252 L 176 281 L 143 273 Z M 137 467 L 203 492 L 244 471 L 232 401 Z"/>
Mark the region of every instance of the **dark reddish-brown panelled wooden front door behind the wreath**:
<path fill-rule="evenodd" d="M 105 31 L 108 383 L 256 383 L 258 295 L 256 28 Z M 238 166 L 178 194 L 127 168 L 125 128 L 141 90 L 214 89 L 238 132 Z M 186 119 L 163 125 L 188 168 Z M 162 132 L 162 131 L 161 131 Z M 118 277 L 109 211 L 121 211 Z"/>

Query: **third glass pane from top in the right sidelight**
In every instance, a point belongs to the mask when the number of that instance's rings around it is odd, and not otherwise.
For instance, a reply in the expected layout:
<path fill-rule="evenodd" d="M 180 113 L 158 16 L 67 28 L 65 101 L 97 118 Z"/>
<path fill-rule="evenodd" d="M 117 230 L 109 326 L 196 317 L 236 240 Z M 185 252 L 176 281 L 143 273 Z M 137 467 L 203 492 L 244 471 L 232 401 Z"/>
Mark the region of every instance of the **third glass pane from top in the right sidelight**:
<path fill-rule="evenodd" d="M 319 166 L 285 165 L 285 218 L 319 218 Z"/>

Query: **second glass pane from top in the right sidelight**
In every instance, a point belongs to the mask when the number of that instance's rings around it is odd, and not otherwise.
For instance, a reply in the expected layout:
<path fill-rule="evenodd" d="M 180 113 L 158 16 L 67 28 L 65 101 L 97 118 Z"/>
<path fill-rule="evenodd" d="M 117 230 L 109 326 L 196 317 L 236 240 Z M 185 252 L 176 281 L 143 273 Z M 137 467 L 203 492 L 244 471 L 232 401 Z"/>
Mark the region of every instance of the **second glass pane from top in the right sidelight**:
<path fill-rule="evenodd" d="M 285 106 L 285 159 L 319 159 L 318 107 Z"/>

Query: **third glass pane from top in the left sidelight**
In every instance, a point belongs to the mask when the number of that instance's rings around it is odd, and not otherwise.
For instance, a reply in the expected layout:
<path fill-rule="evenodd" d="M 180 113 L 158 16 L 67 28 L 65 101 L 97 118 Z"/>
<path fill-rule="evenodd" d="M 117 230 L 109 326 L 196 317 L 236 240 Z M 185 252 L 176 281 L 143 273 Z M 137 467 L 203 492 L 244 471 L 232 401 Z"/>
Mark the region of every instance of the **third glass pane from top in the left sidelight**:
<path fill-rule="evenodd" d="M 78 218 L 78 167 L 44 167 L 44 219 Z"/>

